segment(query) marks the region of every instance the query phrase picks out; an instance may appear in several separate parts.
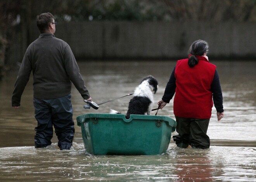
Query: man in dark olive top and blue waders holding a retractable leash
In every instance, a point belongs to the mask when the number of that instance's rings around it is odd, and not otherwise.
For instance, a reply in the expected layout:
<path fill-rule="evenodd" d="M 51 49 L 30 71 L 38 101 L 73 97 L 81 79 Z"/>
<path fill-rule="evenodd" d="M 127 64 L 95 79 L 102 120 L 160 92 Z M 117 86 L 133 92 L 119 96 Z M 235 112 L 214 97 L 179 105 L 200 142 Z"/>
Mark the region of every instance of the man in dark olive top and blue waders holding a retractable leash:
<path fill-rule="evenodd" d="M 43 13 L 36 17 L 41 32 L 28 46 L 12 94 L 12 107 L 19 108 L 21 95 L 33 71 L 35 118 L 35 148 L 51 145 L 53 126 L 61 150 L 69 150 L 74 138 L 72 83 L 83 99 L 92 101 L 81 77 L 69 45 L 54 36 L 54 16 Z M 72 83 L 71 83 L 72 82 Z"/>

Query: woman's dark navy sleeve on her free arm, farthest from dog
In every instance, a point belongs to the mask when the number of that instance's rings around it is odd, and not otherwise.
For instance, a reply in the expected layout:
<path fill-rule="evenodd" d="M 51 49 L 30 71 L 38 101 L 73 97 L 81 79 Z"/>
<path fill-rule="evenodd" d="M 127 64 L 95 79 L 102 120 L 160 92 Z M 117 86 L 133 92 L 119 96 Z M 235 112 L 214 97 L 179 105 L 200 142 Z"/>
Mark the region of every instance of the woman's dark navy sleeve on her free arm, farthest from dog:
<path fill-rule="evenodd" d="M 214 103 L 214 107 L 216 108 L 216 111 L 224 112 L 220 78 L 216 70 L 214 73 L 213 82 L 211 84 L 211 90 L 213 92 L 213 103 Z"/>

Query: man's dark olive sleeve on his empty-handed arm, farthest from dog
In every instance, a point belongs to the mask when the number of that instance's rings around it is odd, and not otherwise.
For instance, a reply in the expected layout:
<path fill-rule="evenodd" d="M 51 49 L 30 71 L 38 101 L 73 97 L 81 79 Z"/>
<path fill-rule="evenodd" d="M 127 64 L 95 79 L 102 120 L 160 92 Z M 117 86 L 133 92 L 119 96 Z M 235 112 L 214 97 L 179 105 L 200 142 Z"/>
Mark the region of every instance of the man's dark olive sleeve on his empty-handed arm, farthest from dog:
<path fill-rule="evenodd" d="M 21 95 L 28 83 L 31 70 L 31 59 L 28 56 L 27 50 L 24 54 L 21 67 L 19 68 L 16 82 L 14 83 L 14 91 L 12 92 L 12 107 L 21 105 Z"/>

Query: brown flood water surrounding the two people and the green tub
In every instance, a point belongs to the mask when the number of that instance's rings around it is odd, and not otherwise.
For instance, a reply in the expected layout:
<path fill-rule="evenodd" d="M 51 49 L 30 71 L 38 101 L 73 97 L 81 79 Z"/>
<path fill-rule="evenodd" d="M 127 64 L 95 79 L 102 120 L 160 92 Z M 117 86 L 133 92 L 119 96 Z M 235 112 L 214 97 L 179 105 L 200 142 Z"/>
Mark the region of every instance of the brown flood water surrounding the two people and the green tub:
<path fill-rule="evenodd" d="M 73 148 L 58 150 L 54 136 L 51 146 L 35 149 L 33 80 L 24 90 L 21 107 L 14 109 L 11 95 L 17 70 L 7 73 L 0 81 L 0 181 L 256 181 L 256 61 L 211 62 L 220 76 L 225 110 L 225 117 L 218 122 L 213 107 L 208 128 L 211 147 L 176 148 L 171 140 L 166 153 L 149 156 L 87 153 L 76 116 L 108 113 L 110 109 L 125 113 L 132 96 L 102 104 L 98 110 L 85 110 L 74 87 Z M 90 95 L 98 104 L 132 93 L 147 75 L 153 75 L 159 82 L 157 102 L 175 64 L 176 61 L 78 62 Z M 157 115 L 175 119 L 173 100 Z"/>

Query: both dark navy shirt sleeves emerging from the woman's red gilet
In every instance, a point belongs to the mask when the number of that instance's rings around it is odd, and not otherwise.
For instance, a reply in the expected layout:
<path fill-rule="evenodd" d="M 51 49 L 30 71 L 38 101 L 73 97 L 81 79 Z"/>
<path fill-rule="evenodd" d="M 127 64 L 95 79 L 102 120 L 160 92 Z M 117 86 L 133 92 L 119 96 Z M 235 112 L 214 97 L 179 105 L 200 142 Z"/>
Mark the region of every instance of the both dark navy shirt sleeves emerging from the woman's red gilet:
<path fill-rule="evenodd" d="M 162 97 L 162 100 L 166 103 L 169 103 L 170 100 L 173 98 L 173 95 L 175 94 L 175 90 L 176 90 L 175 67 L 176 66 L 174 66 L 173 68 L 171 77 L 166 85 L 164 95 Z M 216 111 L 224 112 L 220 78 L 216 70 L 214 73 L 213 82 L 211 84 L 211 90 L 213 92 L 213 103 L 214 103 L 214 107 L 216 108 Z"/>

